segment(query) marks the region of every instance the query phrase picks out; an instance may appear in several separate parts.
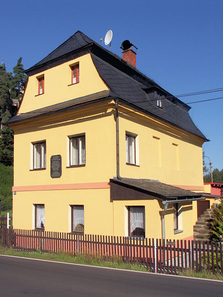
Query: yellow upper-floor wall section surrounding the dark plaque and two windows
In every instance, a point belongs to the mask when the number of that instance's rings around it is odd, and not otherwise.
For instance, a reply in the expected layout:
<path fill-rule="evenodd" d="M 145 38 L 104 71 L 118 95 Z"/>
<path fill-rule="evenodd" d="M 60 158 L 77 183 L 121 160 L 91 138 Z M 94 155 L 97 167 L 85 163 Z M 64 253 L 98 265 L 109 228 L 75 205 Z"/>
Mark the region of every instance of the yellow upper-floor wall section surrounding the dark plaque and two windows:
<path fill-rule="evenodd" d="M 67 117 L 66 117 L 67 118 Z M 75 116 L 73 116 L 75 118 Z M 49 184 L 93 183 L 109 181 L 116 173 L 116 147 L 114 117 L 91 117 L 74 119 L 69 124 L 48 124 L 54 119 L 46 119 L 45 124 L 25 126 L 14 134 L 14 186 Z M 69 147 L 67 136 L 85 133 L 86 166 L 67 167 Z M 46 140 L 46 170 L 30 170 L 30 144 Z M 51 156 L 60 154 L 62 175 L 51 178 Z"/>

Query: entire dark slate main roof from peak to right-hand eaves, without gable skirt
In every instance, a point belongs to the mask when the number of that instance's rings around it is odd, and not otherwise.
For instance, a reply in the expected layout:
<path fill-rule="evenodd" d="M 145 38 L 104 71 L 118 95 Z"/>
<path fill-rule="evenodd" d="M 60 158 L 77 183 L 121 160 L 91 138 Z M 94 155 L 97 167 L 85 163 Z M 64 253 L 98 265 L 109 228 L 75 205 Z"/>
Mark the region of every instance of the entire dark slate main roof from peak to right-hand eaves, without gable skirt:
<path fill-rule="evenodd" d="M 188 114 L 190 107 L 187 104 L 169 94 L 131 64 L 97 44 L 80 31 L 77 31 L 48 56 L 26 70 L 26 73 L 33 75 L 45 71 L 87 52 L 91 52 L 100 76 L 116 97 L 207 141 L 204 134 L 191 120 Z M 163 108 L 156 106 L 154 90 L 159 90 L 166 96 Z"/>

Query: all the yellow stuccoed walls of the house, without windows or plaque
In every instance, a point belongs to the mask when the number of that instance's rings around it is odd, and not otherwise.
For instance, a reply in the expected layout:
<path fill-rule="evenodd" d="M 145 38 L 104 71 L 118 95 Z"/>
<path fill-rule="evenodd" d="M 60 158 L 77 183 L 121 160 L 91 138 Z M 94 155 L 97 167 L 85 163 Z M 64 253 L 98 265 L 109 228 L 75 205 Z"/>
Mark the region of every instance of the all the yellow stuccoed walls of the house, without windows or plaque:
<path fill-rule="evenodd" d="M 79 62 L 80 82 L 71 81 L 71 64 Z M 29 77 L 19 113 L 108 90 L 90 54 L 44 71 L 45 94 L 37 95 L 37 76 Z M 114 102 L 113 102 L 114 103 Z M 109 182 L 116 176 L 115 110 L 111 101 L 94 103 L 48 117 L 12 124 L 14 130 L 14 186 Z M 120 175 L 158 179 L 170 185 L 203 186 L 202 139 L 152 117 L 119 106 Z M 129 111 L 129 110 L 128 110 Z M 139 166 L 126 165 L 125 134 L 138 135 Z M 86 166 L 67 167 L 67 137 L 85 133 Z M 46 140 L 46 170 L 30 170 L 31 143 Z M 60 154 L 62 175 L 51 178 L 50 158 Z M 189 156 L 189 157 L 188 157 Z M 203 188 L 201 189 L 201 191 Z M 13 195 L 13 227 L 34 228 L 34 204 L 45 204 L 45 230 L 69 232 L 70 205 L 84 205 L 85 233 L 127 235 L 126 206 L 144 205 L 146 237 L 161 238 L 160 212 L 163 204 L 154 200 L 110 200 L 110 189 L 24 191 Z M 166 238 L 182 239 L 193 234 L 196 202 L 182 206 L 183 232 L 174 235 L 170 204 L 165 215 Z M 187 211 L 185 211 L 187 209 Z"/>

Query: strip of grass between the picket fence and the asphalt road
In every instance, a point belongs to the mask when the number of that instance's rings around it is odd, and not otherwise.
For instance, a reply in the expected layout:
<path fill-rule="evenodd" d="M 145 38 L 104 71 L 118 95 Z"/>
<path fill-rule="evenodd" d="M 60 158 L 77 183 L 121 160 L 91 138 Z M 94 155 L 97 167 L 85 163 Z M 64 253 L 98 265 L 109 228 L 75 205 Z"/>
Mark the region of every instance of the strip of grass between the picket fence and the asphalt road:
<path fill-rule="evenodd" d="M 123 263 L 122 258 L 120 257 L 113 257 L 113 259 L 111 259 L 110 257 L 107 257 L 107 258 L 105 257 L 104 259 L 102 259 L 97 257 L 97 255 L 89 255 L 87 253 L 83 255 L 82 254 L 73 255 L 72 253 L 69 253 L 69 252 L 42 253 L 41 251 L 27 252 L 27 251 L 16 251 L 16 250 L 5 249 L 5 248 L 0 248 L 0 254 L 148 272 L 146 267 L 140 266 L 137 263 L 135 264 Z M 195 272 L 188 269 L 188 270 L 179 272 L 178 275 L 223 281 L 223 275 L 209 273 L 208 271 Z"/>

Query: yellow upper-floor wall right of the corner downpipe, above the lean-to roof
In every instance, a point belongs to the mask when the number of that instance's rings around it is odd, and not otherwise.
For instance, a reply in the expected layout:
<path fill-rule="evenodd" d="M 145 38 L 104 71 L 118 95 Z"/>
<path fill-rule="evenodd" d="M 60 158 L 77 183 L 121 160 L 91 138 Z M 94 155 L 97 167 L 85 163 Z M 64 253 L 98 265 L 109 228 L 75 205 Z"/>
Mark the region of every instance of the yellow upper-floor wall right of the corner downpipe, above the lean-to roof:
<path fill-rule="evenodd" d="M 126 164 L 126 132 L 139 137 L 139 166 Z M 121 115 L 119 142 L 120 176 L 203 187 L 203 141 L 198 137 L 162 126 L 152 119 Z"/>

